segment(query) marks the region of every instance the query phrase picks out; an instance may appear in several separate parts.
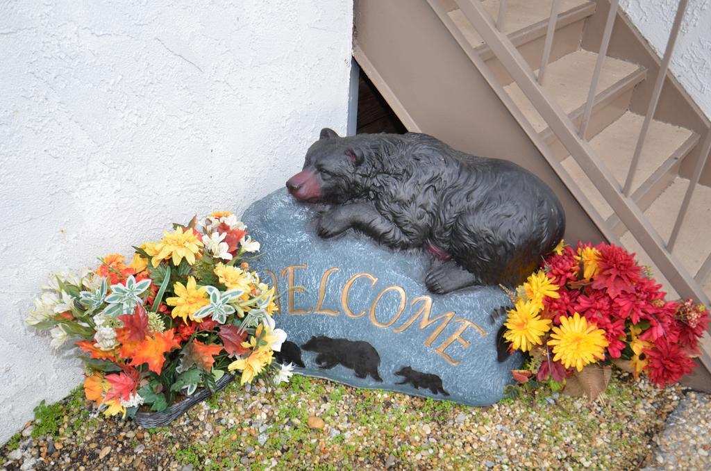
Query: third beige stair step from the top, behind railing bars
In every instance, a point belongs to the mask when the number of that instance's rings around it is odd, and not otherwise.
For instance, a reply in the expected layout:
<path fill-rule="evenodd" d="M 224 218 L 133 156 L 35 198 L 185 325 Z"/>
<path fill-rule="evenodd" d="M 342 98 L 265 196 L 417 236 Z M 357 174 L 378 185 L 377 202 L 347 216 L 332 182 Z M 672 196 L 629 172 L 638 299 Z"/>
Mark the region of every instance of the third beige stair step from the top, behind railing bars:
<path fill-rule="evenodd" d="M 597 157 L 607 166 L 620 185 L 623 185 L 624 179 L 626 179 L 643 121 L 643 116 L 630 111 L 625 112 L 619 120 L 603 129 L 590 141 L 590 146 L 594 149 Z M 639 158 L 638 168 L 632 180 L 635 201 L 640 201 L 647 196 L 643 208 L 648 207 L 651 201 L 647 193 L 652 192 L 652 200 L 654 196 L 661 194 L 670 184 L 673 171 L 678 168 L 678 163 L 693 149 L 697 141 L 698 135 L 689 129 L 652 120 L 647 140 Z M 597 191 L 577 162 L 572 157 L 567 157 L 562 165 L 600 213 L 600 216 L 609 218 L 613 214 L 612 208 L 606 203 L 602 194 Z M 659 169 L 661 171 L 657 173 Z M 641 194 L 636 194 L 638 189 L 643 190 Z"/>

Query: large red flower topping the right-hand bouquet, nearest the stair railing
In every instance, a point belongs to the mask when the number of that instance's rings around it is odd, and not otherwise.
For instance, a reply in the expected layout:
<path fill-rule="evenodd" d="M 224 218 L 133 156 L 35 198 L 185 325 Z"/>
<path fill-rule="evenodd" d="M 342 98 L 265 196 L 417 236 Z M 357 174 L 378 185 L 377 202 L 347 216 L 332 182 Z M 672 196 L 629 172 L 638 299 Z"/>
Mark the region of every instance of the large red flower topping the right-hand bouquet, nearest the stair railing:
<path fill-rule="evenodd" d="M 610 244 L 597 246 L 600 260 L 599 272 L 593 277 L 592 287 L 606 290 L 611 298 L 621 292 L 634 292 L 634 285 L 641 280 L 641 268 L 634 260 L 634 254 L 624 248 Z"/>

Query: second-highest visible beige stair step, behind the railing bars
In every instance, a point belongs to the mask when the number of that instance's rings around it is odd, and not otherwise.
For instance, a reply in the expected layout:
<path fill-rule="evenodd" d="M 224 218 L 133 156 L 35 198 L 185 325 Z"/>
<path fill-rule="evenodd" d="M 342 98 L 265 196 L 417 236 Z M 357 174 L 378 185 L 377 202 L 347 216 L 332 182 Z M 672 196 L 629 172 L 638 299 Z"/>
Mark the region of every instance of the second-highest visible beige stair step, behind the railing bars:
<path fill-rule="evenodd" d="M 571 115 L 580 107 L 584 107 L 596 60 L 597 53 L 581 49 L 547 66 L 543 88 L 552 95 L 557 105 L 568 115 Z M 597 89 L 602 90 L 598 95 L 601 95 L 602 92 L 617 83 L 629 80 L 630 76 L 638 75 L 639 70 L 641 70 L 641 67 L 636 64 L 625 62 L 624 60 L 606 58 L 602 65 L 597 85 Z M 508 95 L 523 112 L 523 115 L 536 132 L 542 132 L 547 128 L 545 120 L 538 114 L 517 84 L 506 85 L 504 90 L 508 92 Z"/>

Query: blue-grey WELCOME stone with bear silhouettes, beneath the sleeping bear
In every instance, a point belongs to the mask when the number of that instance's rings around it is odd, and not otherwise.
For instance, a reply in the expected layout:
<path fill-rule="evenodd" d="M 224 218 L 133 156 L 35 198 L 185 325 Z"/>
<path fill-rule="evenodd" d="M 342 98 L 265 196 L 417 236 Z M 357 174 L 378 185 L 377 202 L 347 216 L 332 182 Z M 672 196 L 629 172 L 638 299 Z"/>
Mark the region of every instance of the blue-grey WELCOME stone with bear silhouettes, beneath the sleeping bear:
<path fill-rule="evenodd" d="M 262 256 L 252 261 L 280 295 L 284 361 L 306 376 L 363 388 L 485 406 L 502 398 L 511 369 L 496 333 L 507 306 L 498 287 L 436 295 L 424 285 L 429 256 L 393 251 L 348 230 L 317 235 L 319 206 L 275 191 L 242 216 Z"/>

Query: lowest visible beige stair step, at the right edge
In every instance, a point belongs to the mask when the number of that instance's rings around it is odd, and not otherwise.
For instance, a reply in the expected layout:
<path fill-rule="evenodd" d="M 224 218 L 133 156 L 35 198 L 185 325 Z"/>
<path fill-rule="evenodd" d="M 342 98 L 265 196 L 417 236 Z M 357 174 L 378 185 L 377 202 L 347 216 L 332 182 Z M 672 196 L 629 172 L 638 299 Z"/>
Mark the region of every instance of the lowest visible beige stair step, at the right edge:
<path fill-rule="evenodd" d="M 644 211 L 645 215 L 656 228 L 662 240 L 668 240 L 679 213 L 681 202 L 689 185 L 689 180 L 680 176 L 666 189 L 656 201 Z M 692 275 L 702 267 L 711 255 L 711 240 L 708 238 L 708 223 L 711 219 L 711 188 L 697 185 L 689 204 L 678 239 L 672 250 L 672 255 Z M 641 250 L 631 235 L 625 233 L 621 242 L 626 248 L 635 248 L 639 253 L 638 260 L 644 265 L 651 265 L 651 259 Z M 655 270 L 658 275 L 658 270 Z M 711 295 L 710 280 L 700 280 L 706 295 Z M 669 285 L 665 285 L 668 288 Z"/>

